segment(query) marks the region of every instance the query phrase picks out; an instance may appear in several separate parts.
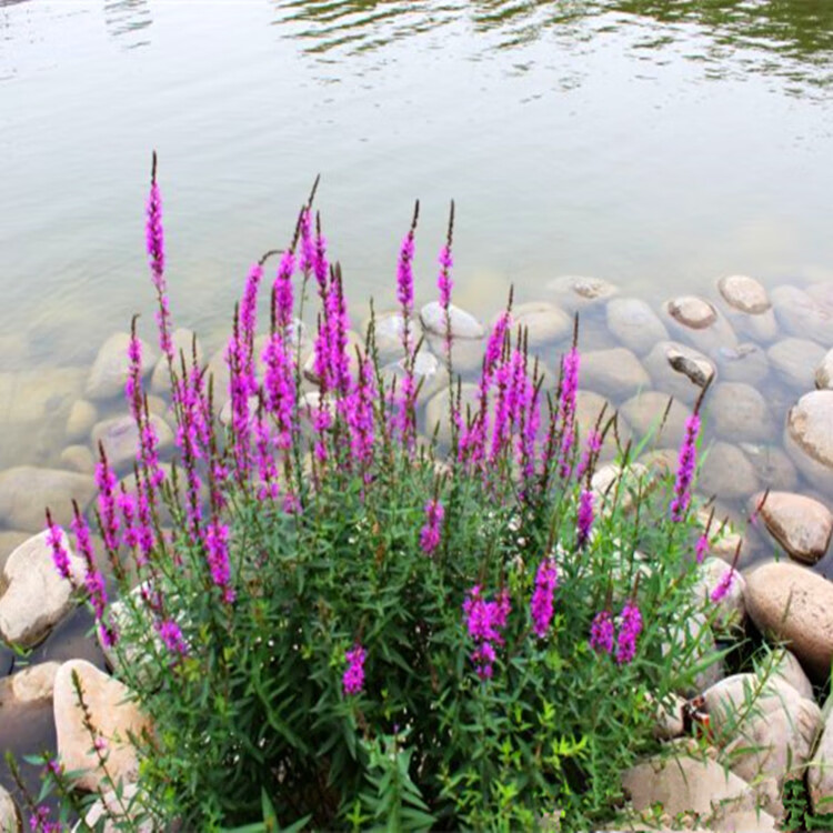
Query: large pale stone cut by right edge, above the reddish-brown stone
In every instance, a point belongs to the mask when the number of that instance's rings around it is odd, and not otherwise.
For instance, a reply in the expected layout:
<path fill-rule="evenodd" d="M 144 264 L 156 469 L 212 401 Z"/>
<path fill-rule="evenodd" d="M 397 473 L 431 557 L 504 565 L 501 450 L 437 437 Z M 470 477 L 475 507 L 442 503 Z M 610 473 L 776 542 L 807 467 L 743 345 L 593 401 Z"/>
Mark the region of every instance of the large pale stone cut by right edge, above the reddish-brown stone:
<path fill-rule="evenodd" d="M 805 393 L 790 409 L 784 448 L 816 489 L 833 492 L 833 391 Z"/>

